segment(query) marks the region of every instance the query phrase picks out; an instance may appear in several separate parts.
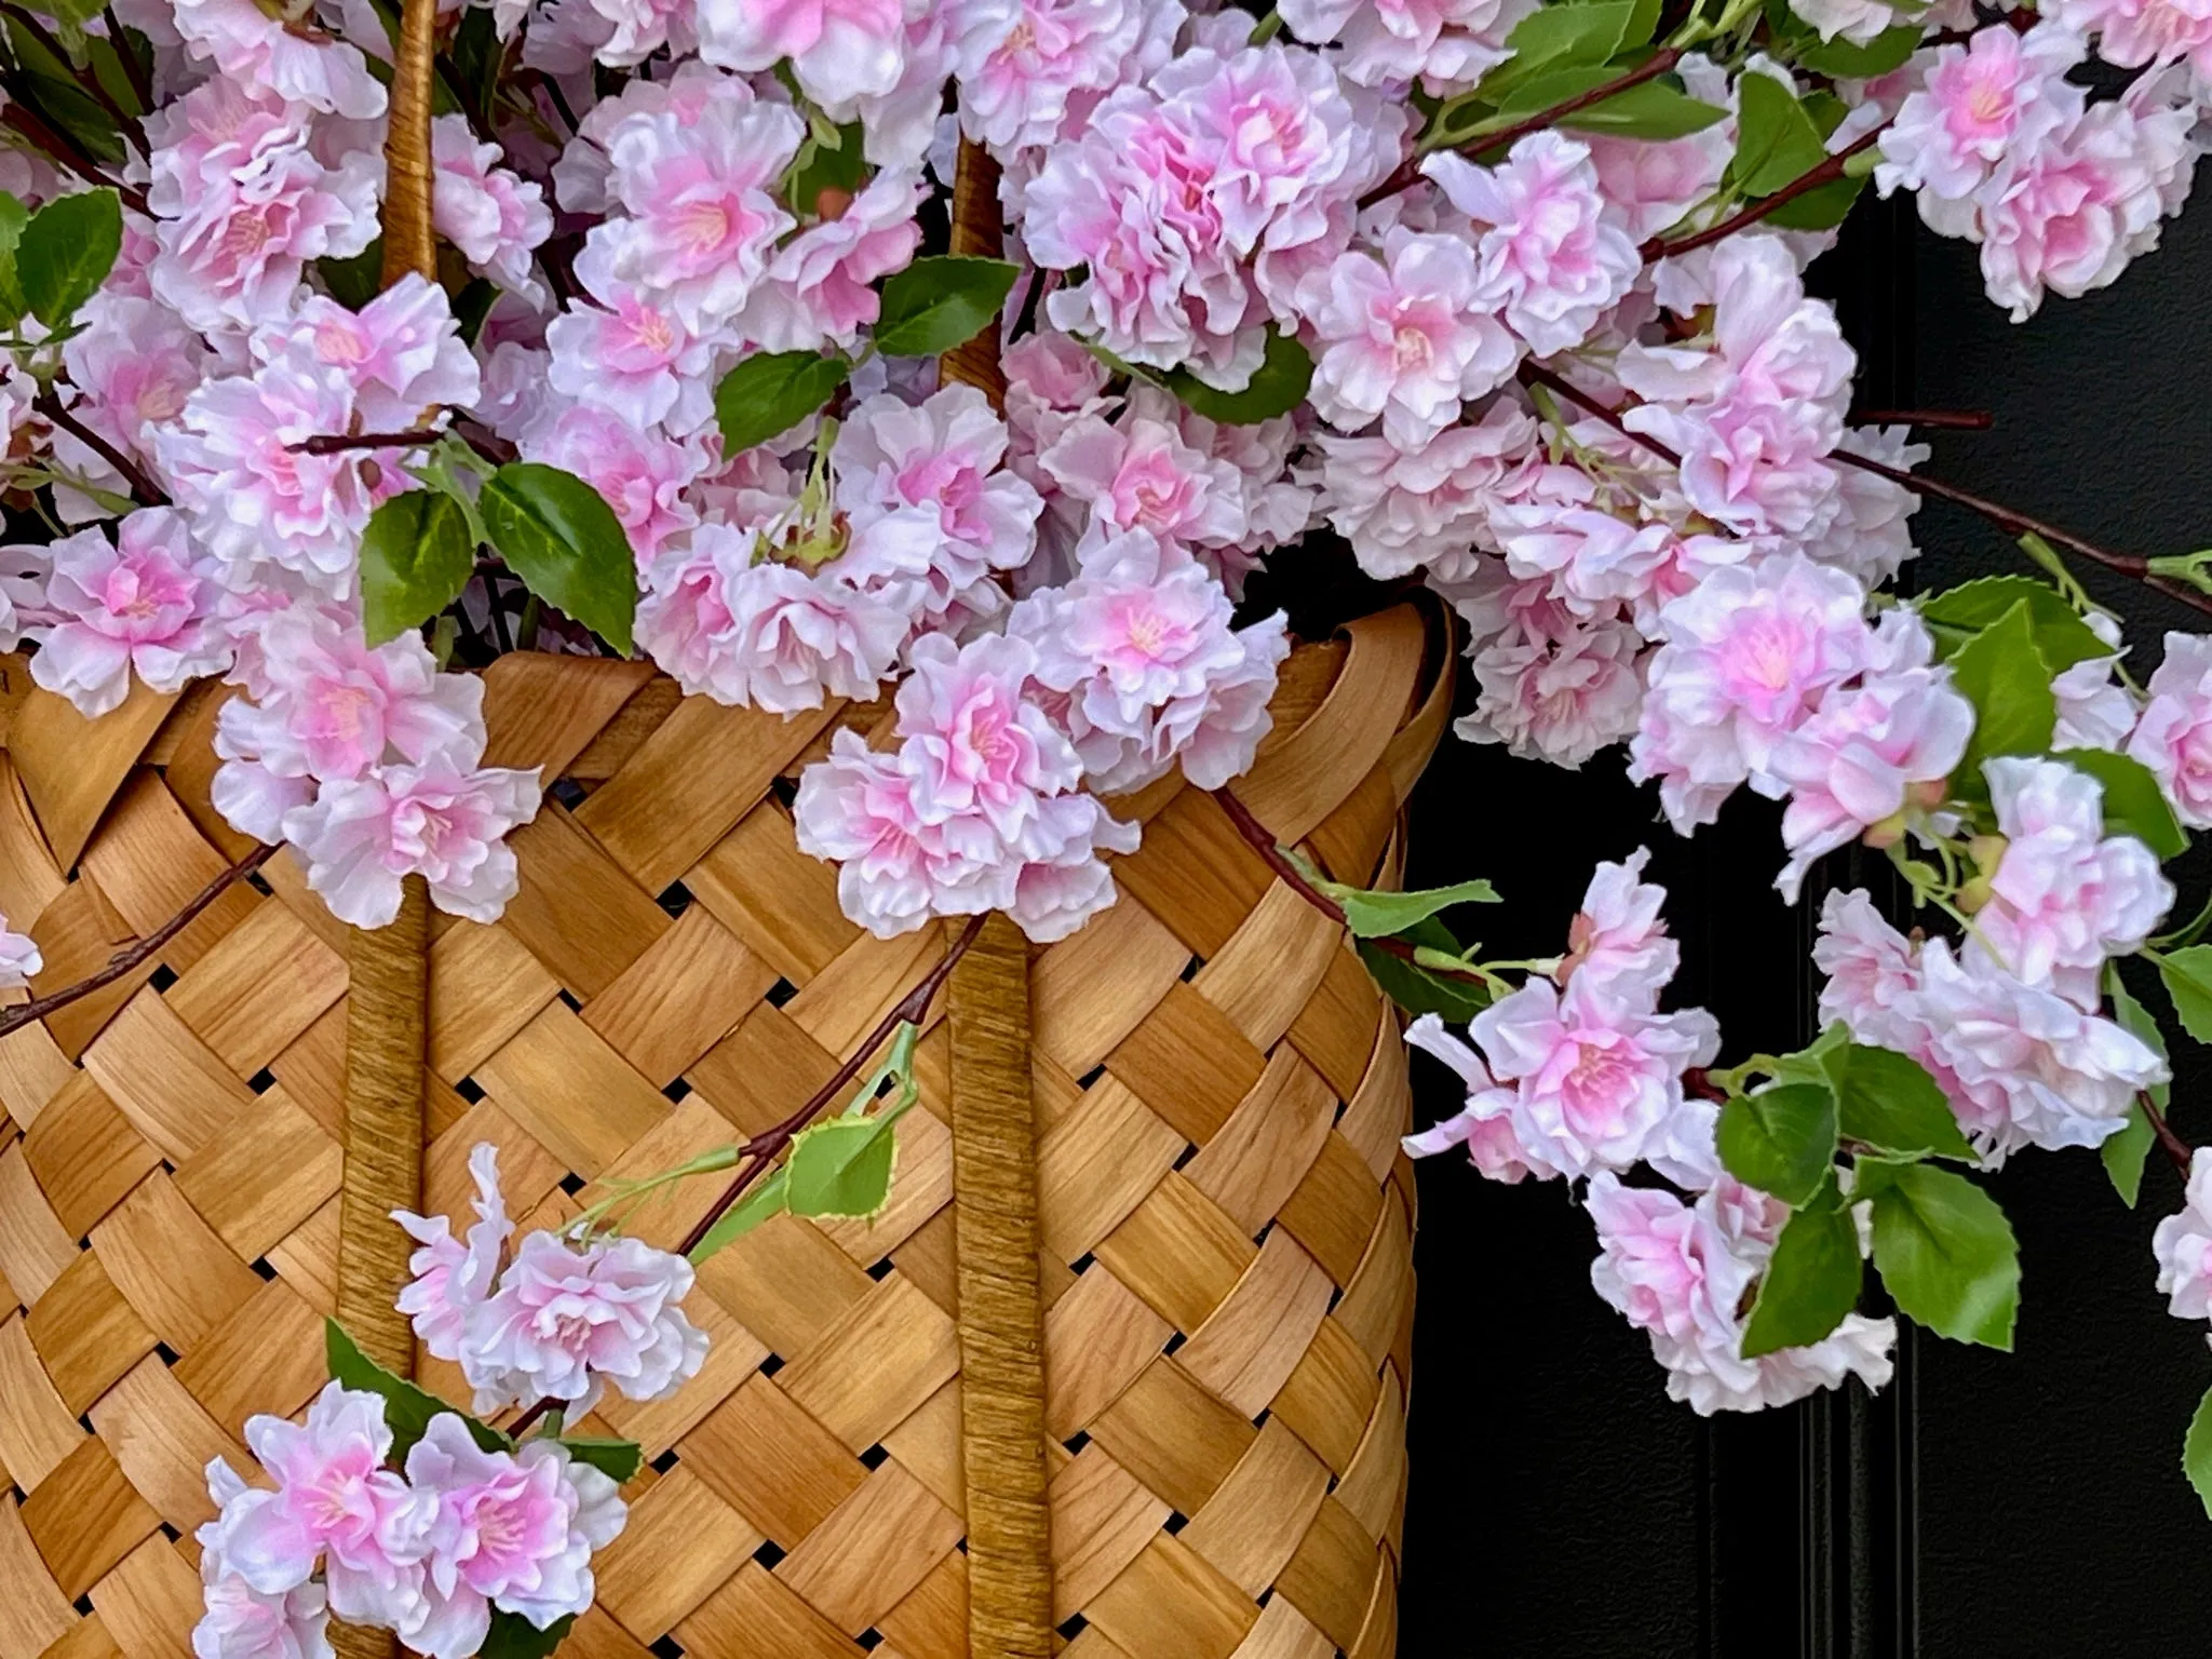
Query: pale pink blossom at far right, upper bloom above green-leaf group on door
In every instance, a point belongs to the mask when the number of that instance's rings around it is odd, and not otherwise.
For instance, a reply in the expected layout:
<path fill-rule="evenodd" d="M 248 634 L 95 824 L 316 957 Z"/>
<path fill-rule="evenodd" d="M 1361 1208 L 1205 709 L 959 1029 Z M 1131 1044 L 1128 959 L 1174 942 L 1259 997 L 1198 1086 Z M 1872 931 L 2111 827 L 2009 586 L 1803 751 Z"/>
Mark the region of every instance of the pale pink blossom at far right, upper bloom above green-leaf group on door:
<path fill-rule="evenodd" d="M 2084 1009 L 2108 956 L 2128 956 L 2174 902 L 2159 858 L 2135 836 L 2106 836 L 2104 785 L 2064 761 L 1982 763 L 2004 834 L 1975 931 L 2026 984 Z"/>

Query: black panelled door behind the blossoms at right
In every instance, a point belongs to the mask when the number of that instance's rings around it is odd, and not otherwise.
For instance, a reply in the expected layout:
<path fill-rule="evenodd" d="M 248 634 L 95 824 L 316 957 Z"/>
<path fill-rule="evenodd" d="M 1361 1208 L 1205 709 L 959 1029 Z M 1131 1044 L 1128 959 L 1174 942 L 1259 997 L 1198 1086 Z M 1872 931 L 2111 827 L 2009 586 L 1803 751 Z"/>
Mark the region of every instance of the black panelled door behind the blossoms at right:
<path fill-rule="evenodd" d="M 1863 204 L 1812 272 L 1845 296 L 1860 407 L 1991 409 L 1986 434 L 1936 434 L 1927 471 L 2106 546 L 2212 542 L 2212 212 L 2168 223 L 2112 290 L 2020 327 L 1982 299 L 1973 250 L 1909 212 Z M 1924 584 L 2024 568 L 1955 509 L 1931 502 L 1916 522 Z M 2208 622 L 2088 582 L 2126 617 L 2137 677 L 2166 628 Z M 1590 863 L 1637 845 L 1670 889 L 1677 995 L 1721 1018 L 1723 1062 L 1812 1037 L 1823 880 L 1880 894 L 1882 872 L 1838 854 L 1803 909 L 1783 907 L 1767 803 L 1739 796 L 1679 841 L 1617 759 L 1571 776 L 1447 743 L 1416 799 L 1411 876 L 1491 876 L 1509 902 L 1484 942 L 1548 953 Z M 2177 872 L 2183 914 L 2212 876 L 2199 854 Z M 2192 1141 L 2212 1139 L 2208 1077 L 2203 1051 L 2177 1053 L 2174 1121 Z M 1420 1057 L 1416 1088 L 1422 1121 L 1455 1108 Z M 1993 1190 L 2022 1241 L 2013 1354 L 1907 1325 L 1878 1398 L 1851 1385 L 1701 1420 L 1597 1301 L 1590 1225 L 1557 1183 L 1427 1161 L 1407 1659 L 2212 1652 L 2212 1520 L 2179 1473 L 2212 1354 L 2201 1325 L 2166 1314 L 2150 1256 L 2179 1181 L 2152 1161 L 2130 1212 L 2093 1152 L 2031 1150 Z"/>

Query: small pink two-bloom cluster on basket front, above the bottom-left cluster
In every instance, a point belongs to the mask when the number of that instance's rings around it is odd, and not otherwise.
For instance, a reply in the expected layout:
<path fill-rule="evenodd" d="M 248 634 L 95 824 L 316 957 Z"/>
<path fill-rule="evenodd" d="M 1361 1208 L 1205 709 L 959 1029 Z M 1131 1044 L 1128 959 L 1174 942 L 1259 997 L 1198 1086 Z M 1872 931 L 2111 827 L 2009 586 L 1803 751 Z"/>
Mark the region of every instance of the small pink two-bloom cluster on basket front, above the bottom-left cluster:
<path fill-rule="evenodd" d="M 606 1385 L 628 1400 L 661 1400 L 699 1374 L 706 1332 L 679 1303 L 684 1256 L 639 1239 L 531 1232 L 507 1259 L 513 1223 L 500 1197 L 498 1152 L 469 1155 L 476 1223 L 456 1239 L 445 1217 L 394 1212 L 420 1248 L 398 1310 L 442 1360 L 458 1360 L 480 1413 L 560 1405 L 584 1416 Z"/>

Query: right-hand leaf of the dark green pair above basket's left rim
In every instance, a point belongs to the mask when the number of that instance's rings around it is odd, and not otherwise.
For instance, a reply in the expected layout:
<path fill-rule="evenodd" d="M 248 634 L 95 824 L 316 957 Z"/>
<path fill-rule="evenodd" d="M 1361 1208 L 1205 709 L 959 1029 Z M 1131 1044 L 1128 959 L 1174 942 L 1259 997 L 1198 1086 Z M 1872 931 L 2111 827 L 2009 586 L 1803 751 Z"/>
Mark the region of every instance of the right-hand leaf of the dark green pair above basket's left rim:
<path fill-rule="evenodd" d="M 630 655 L 637 560 L 599 491 L 560 467 L 511 460 L 476 507 L 491 546 L 531 593 Z"/>

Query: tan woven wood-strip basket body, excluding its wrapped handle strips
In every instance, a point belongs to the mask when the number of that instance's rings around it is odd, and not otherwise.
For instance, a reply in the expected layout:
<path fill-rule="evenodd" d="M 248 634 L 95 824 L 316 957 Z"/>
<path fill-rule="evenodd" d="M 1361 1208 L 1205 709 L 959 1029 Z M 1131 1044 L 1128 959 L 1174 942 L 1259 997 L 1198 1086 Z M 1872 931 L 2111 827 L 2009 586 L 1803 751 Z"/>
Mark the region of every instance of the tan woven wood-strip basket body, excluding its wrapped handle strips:
<path fill-rule="evenodd" d="M 1411 611 L 1301 648 L 1239 796 L 1385 883 L 1444 721 Z M 845 708 L 679 699 L 637 664 L 509 657 L 498 765 L 560 779 L 495 927 L 429 956 L 425 1210 L 495 1141 L 524 1225 L 757 1133 L 942 953 L 874 940 L 792 843 Z M 208 805 L 219 692 L 80 721 L 9 666 L 0 911 L 84 978 L 248 843 Z M 1075 1659 L 1394 1650 L 1411 1179 L 1396 1018 L 1340 929 L 1179 779 L 1121 902 L 1031 960 L 1053 1617 Z M 336 1305 L 347 929 L 276 858 L 157 962 L 0 1042 L 0 1659 L 170 1659 L 201 1467 L 323 1383 Z M 608 1400 L 630 1526 L 564 1652 L 964 1659 L 947 1033 L 874 1223 L 776 1219 L 701 1270 L 699 1378 Z M 712 1181 L 635 1230 L 672 1243 Z M 465 1398 L 458 1374 L 420 1378 Z M 672 1646 L 670 1646 L 672 1644 Z"/>

